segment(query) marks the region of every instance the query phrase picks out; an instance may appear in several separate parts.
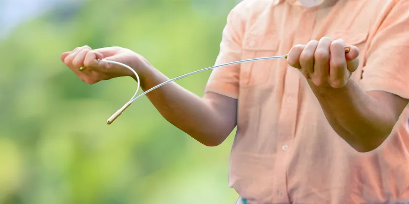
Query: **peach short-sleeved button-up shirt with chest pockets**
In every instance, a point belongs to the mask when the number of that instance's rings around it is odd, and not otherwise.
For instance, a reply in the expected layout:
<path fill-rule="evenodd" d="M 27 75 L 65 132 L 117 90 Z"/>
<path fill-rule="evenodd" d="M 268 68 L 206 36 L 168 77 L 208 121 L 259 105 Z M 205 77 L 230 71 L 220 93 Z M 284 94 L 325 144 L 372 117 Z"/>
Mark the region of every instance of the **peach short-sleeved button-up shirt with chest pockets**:
<path fill-rule="evenodd" d="M 409 98 L 407 0 L 339 0 L 327 8 L 244 0 L 228 16 L 216 64 L 285 55 L 324 36 L 360 49 L 352 79 L 364 91 Z M 248 203 L 409 202 L 409 106 L 380 147 L 359 153 L 285 59 L 214 69 L 206 91 L 238 99 L 229 184 Z"/>

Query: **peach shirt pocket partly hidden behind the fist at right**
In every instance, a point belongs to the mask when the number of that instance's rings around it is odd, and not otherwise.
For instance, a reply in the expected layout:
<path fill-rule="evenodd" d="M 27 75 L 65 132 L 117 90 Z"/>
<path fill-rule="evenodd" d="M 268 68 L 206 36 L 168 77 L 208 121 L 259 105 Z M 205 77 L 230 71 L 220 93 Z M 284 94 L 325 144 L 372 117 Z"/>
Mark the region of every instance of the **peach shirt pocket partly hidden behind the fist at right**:
<path fill-rule="evenodd" d="M 368 35 L 369 35 L 369 31 L 351 32 L 351 31 L 341 31 L 341 30 L 335 31 L 333 34 L 334 39 L 343 39 L 345 41 L 345 45 L 353 45 L 353 46 L 358 47 L 360 51 L 360 54 L 359 54 L 360 57 L 362 55 L 365 55 L 365 48 L 367 45 Z M 365 62 L 361 58 L 359 67 L 352 74 L 351 78 L 357 83 L 362 78 L 362 73 L 363 73 L 362 67 L 364 63 Z"/>

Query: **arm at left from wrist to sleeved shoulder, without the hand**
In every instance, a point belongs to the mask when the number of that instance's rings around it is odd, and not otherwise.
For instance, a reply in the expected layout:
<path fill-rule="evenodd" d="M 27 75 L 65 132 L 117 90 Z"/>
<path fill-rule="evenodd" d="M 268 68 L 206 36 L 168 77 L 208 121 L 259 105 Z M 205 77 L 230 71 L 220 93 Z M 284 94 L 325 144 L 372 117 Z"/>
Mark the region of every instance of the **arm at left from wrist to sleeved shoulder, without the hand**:
<path fill-rule="evenodd" d="M 244 23 L 240 20 L 242 16 L 237 8 L 228 16 L 216 65 L 241 58 Z M 149 77 L 142 80 L 142 89 L 147 90 L 168 80 L 157 69 L 149 70 Z M 216 146 L 229 136 L 237 123 L 239 73 L 240 65 L 214 69 L 202 98 L 176 83 L 158 88 L 148 93 L 147 97 L 170 123 L 197 141 L 207 146 Z"/>

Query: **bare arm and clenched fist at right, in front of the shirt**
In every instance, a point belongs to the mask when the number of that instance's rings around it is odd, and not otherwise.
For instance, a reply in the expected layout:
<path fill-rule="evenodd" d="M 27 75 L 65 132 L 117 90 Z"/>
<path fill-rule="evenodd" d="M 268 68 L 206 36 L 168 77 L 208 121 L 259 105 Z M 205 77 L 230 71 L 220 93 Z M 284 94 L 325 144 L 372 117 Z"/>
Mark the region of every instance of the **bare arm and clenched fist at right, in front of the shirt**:
<path fill-rule="evenodd" d="M 343 40 L 324 37 L 294 46 L 288 62 L 307 79 L 332 129 L 355 150 L 377 148 L 391 134 L 408 103 L 384 91 L 363 91 L 352 79 L 359 65 L 359 50 Z"/>

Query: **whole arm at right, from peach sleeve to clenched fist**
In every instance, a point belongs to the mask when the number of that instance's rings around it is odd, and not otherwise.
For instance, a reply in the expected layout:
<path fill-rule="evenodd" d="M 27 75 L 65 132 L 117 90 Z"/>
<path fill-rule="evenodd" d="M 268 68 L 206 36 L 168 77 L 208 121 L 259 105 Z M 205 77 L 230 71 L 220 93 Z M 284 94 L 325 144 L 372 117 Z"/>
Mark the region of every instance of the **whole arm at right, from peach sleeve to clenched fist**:
<path fill-rule="evenodd" d="M 294 46 L 288 63 L 300 69 L 334 131 L 360 152 L 390 135 L 409 99 L 409 1 L 399 1 L 371 40 L 360 86 L 350 79 L 359 50 L 322 38 Z"/>

